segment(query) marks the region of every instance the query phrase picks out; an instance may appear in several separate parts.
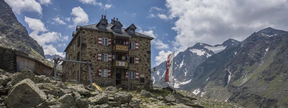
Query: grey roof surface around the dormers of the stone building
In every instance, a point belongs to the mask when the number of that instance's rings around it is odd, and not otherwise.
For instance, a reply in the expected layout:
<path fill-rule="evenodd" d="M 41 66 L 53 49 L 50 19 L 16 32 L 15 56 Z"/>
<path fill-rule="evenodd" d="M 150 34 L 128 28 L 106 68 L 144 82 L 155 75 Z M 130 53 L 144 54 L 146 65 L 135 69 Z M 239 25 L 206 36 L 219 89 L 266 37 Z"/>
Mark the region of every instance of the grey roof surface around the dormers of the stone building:
<path fill-rule="evenodd" d="M 150 38 L 150 39 L 154 39 L 150 36 L 147 35 L 143 35 L 140 34 L 138 32 L 135 32 L 135 34 L 130 34 L 128 32 L 125 31 L 125 28 L 122 28 L 121 32 L 115 32 L 113 31 L 111 28 L 112 26 L 114 26 L 114 24 L 108 24 L 107 25 L 107 29 L 99 29 L 98 27 L 96 27 L 97 24 L 92 24 L 92 25 L 87 25 L 87 26 L 81 26 L 81 28 L 86 28 L 86 29 L 94 29 L 94 30 L 99 30 L 99 31 L 105 31 L 105 32 L 112 32 L 114 35 L 116 36 L 121 36 L 121 37 L 127 37 L 127 38 L 131 38 L 131 36 L 136 36 L 136 37 L 142 37 L 142 38 Z"/>

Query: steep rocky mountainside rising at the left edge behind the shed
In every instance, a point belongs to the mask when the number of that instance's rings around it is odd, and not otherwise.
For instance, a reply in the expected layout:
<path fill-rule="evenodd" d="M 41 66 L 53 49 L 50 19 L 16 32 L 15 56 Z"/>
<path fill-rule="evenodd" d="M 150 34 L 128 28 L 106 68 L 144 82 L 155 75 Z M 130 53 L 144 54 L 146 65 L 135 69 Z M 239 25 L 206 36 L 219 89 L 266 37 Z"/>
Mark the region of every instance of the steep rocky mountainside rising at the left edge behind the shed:
<path fill-rule="evenodd" d="M 29 36 L 26 28 L 18 22 L 11 7 L 4 0 L 0 0 L 0 13 L 0 45 L 44 57 L 42 46 Z"/>

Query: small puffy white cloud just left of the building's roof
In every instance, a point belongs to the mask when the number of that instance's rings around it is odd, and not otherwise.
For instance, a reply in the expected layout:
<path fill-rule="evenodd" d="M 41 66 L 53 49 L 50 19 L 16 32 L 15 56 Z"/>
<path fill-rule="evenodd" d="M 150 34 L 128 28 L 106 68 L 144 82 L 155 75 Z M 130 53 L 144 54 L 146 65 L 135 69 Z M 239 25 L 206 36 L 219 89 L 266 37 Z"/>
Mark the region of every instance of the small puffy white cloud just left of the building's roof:
<path fill-rule="evenodd" d="M 72 18 L 74 25 L 70 25 L 69 27 L 75 27 L 77 25 L 85 25 L 89 22 L 88 14 L 81 7 L 74 7 L 72 9 L 71 15 L 75 16 Z"/>

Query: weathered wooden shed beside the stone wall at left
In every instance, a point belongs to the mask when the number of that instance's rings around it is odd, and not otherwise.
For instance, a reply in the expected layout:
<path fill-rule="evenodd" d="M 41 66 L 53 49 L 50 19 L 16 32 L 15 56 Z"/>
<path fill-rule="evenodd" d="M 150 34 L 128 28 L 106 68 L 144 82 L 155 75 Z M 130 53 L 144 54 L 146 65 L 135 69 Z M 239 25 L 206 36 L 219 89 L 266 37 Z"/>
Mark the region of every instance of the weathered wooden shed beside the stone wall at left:
<path fill-rule="evenodd" d="M 27 68 L 33 71 L 36 75 L 49 76 L 53 69 L 52 67 L 47 66 L 46 64 L 42 63 L 41 61 L 35 58 L 19 53 L 16 53 L 16 64 L 18 72 L 20 72 L 24 68 Z"/>

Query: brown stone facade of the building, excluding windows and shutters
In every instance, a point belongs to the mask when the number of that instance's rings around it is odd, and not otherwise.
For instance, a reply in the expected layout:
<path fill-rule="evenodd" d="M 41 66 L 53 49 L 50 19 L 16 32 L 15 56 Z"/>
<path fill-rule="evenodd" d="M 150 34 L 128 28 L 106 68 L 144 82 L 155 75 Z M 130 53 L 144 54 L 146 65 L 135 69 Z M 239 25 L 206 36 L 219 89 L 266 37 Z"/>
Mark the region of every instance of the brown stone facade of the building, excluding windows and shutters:
<path fill-rule="evenodd" d="M 103 20 L 102 20 L 103 22 Z M 99 23 L 102 23 L 101 21 Z M 122 28 L 122 32 L 125 33 L 125 36 L 117 35 L 113 29 L 113 24 L 107 24 L 107 29 L 110 30 L 101 30 L 97 27 L 98 24 L 89 25 L 89 26 L 77 26 L 76 33 L 73 34 L 73 39 L 68 44 L 65 49 L 66 59 L 73 60 L 77 58 L 77 53 L 79 53 L 80 61 L 91 61 L 91 76 L 92 82 L 95 82 L 97 85 L 112 85 L 117 87 L 122 87 L 124 89 L 135 89 L 135 86 L 140 85 L 151 85 L 151 40 L 153 38 L 142 35 L 142 34 L 130 34 L 125 32 L 125 29 Z M 133 25 L 133 24 L 132 24 Z M 131 26 L 132 26 L 131 25 Z M 112 26 L 112 27 L 111 27 Z M 133 25 L 134 26 L 134 25 Z M 129 27 L 128 27 L 129 28 Z M 141 36 L 139 36 L 141 35 Z M 78 38 L 81 36 L 81 45 L 77 46 Z M 99 45 L 98 37 L 109 38 L 111 39 L 111 45 Z M 100 38 L 99 38 L 100 39 Z M 117 40 L 122 39 L 126 42 L 126 48 L 129 48 L 129 41 L 139 43 L 139 49 L 128 49 L 127 51 L 118 51 L 113 49 L 115 47 Z M 74 51 L 74 43 L 76 44 L 76 49 Z M 70 48 L 72 46 L 72 48 Z M 81 51 L 80 51 L 81 47 Z M 113 55 L 112 61 L 99 61 L 98 54 L 107 53 Z M 100 54 L 100 55 L 101 55 Z M 126 55 L 126 59 L 122 60 L 127 62 L 128 66 L 119 67 L 116 66 L 117 55 Z M 70 55 L 71 58 L 70 59 Z M 134 56 L 139 58 L 139 64 L 129 64 L 129 56 Z M 75 59 L 76 60 L 76 59 Z M 136 58 L 135 58 L 136 62 Z M 64 62 L 63 63 L 63 81 L 70 79 L 77 79 L 82 83 L 90 84 L 89 74 L 87 69 L 87 64 L 77 64 L 73 66 L 73 63 Z M 99 76 L 99 68 L 101 69 L 110 69 L 111 76 L 101 77 Z M 71 69 L 71 76 L 69 75 Z M 134 71 L 135 77 L 137 76 L 136 72 L 139 73 L 139 79 L 133 78 L 128 79 L 126 77 L 126 72 Z M 75 77 L 73 77 L 73 72 L 75 72 Z M 80 72 L 80 74 L 78 74 Z M 116 74 L 117 73 L 117 74 Z M 80 76 L 78 76 L 80 75 Z M 116 80 L 117 75 L 117 80 Z M 120 77 L 119 77 L 120 76 Z M 87 80 L 86 80 L 87 79 Z M 140 82 L 141 79 L 141 82 Z M 117 84 L 116 84 L 117 83 Z"/>

